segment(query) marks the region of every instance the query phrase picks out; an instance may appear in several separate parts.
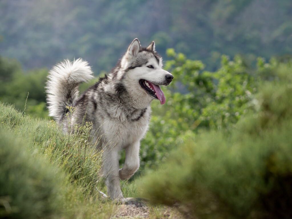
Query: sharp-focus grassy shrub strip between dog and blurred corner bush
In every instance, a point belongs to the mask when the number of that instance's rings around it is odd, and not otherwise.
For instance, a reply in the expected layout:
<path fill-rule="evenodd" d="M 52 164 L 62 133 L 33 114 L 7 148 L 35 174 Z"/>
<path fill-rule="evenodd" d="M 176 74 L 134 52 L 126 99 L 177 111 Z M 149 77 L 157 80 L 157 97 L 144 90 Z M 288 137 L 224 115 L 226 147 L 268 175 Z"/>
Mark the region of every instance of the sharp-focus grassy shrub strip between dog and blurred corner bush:
<path fill-rule="evenodd" d="M 45 154 L 50 160 L 69 171 L 72 182 L 84 186 L 89 193 L 95 191 L 100 181 L 101 156 L 91 145 L 90 124 L 75 133 L 64 135 L 54 121 L 34 119 L 0 103 L 0 124 L 11 129 L 31 145 L 31 150 Z"/>

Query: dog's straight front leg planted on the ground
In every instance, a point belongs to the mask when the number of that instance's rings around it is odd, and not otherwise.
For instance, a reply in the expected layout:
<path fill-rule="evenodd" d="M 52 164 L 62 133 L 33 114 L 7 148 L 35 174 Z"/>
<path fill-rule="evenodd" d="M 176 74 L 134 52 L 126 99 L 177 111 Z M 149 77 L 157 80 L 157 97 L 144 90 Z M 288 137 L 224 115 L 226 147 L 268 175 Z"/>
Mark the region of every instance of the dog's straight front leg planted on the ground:
<path fill-rule="evenodd" d="M 102 153 L 102 172 L 105 175 L 107 195 L 111 199 L 123 198 L 119 180 L 119 159 L 116 148 L 105 149 Z"/>

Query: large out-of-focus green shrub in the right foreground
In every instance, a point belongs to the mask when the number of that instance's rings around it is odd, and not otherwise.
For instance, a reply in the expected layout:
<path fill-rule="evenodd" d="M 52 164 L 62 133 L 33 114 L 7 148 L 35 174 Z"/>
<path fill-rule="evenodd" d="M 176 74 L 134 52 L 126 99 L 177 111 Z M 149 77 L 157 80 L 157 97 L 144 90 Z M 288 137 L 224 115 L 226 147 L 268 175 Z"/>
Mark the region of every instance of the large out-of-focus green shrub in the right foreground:
<path fill-rule="evenodd" d="M 230 130 L 205 131 L 142 178 L 138 196 L 194 218 L 292 217 L 292 65 L 281 64 Z"/>

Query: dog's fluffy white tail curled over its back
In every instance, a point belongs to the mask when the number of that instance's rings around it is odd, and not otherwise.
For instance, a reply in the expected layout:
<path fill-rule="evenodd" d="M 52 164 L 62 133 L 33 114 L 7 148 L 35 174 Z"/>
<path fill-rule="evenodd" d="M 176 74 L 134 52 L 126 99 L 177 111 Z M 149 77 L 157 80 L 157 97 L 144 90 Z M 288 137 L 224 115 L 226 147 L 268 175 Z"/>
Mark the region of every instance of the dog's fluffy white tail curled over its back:
<path fill-rule="evenodd" d="M 64 60 L 55 65 L 48 75 L 46 86 L 49 116 L 62 119 L 67 106 L 73 106 L 79 97 L 78 86 L 92 79 L 91 67 L 81 58 Z"/>

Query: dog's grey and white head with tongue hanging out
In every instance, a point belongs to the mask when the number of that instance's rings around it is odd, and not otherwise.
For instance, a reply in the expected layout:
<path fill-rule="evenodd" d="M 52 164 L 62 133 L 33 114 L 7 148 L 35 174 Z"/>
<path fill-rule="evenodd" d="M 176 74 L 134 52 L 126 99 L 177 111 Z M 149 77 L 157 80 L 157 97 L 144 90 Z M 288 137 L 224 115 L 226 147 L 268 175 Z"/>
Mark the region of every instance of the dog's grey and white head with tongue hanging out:
<path fill-rule="evenodd" d="M 136 38 L 128 47 L 121 59 L 121 68 L 124 69 L 124 81 L 133 89 L 152 99 L 159 99 L 161 104 L 165 103 L 165 96 L 160 85 L 168 85 L 173 75 L 162 69 L 162 58 L 155 51 L 155 43 L 141 48 Z"/>

